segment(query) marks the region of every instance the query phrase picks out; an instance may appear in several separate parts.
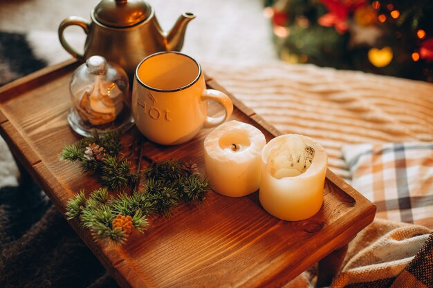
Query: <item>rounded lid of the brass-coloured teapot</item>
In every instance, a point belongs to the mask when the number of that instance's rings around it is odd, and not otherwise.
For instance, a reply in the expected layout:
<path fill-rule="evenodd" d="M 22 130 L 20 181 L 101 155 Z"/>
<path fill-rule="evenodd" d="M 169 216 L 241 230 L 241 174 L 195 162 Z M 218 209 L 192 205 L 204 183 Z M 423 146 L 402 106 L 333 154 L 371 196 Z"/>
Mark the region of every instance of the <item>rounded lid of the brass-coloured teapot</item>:
<path fill-rule="evenodd" d="M 152 8 L 142 0 L 102 0 L 93 9 L 95 19 L 105 26 L 125 28 L 145 21 Z"/>

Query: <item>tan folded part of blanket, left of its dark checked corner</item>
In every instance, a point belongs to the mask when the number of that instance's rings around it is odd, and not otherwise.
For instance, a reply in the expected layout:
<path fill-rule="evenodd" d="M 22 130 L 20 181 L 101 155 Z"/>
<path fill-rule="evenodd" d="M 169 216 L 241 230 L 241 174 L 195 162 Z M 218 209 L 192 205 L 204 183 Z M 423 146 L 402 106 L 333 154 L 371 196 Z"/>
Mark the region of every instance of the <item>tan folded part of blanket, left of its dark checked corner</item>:
<path fill-rule="evenodd" d="M 349 244 L 331 288 L 396 278 L 429 236 L 430 229 L 423 226 L 376 219 Z"/>

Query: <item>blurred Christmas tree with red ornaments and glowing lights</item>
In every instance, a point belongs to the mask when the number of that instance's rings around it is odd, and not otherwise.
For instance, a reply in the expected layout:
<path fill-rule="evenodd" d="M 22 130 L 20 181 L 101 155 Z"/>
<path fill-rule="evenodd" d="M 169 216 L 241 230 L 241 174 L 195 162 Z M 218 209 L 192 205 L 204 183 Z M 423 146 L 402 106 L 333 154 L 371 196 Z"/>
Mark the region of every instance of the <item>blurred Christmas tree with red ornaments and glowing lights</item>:
<path fill-rule="evenodd" d="M 432 0 L 268 0 L 282 59 L 433 82 Z"/>

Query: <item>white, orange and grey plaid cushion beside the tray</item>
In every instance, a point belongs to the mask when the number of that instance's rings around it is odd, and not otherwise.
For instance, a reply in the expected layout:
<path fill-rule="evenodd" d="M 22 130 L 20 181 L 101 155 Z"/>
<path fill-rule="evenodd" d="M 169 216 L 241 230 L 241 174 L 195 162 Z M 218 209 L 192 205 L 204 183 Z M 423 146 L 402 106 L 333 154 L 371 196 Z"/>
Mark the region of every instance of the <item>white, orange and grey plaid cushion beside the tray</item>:
<path fill-rule="evenodd" d="M 376 218 L 433 229 L 433 142 L 342 147 L 352 186 L 378 207 Z"/>

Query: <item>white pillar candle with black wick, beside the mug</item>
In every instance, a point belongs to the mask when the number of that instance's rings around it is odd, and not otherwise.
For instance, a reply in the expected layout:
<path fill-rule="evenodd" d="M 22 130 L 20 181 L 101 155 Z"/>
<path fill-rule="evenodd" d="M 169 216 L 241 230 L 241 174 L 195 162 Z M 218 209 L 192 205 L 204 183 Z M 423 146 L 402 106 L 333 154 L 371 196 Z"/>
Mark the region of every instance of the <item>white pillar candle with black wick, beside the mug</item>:
<path fill-rule="evenodd" d="M 241 197 L 260 186 L 260 156 L 266 144 L 255 126 L 235 120 L 216 127 L 205 138 L 205 171 L 213 189 Z"/>

